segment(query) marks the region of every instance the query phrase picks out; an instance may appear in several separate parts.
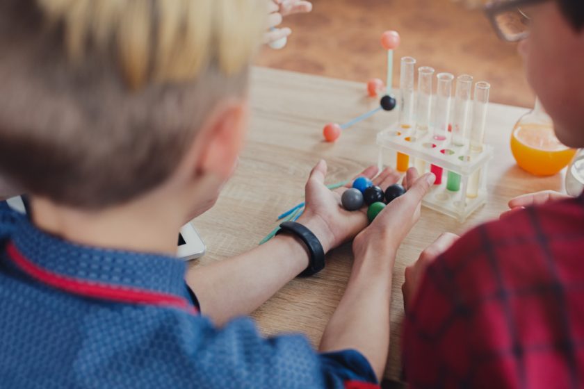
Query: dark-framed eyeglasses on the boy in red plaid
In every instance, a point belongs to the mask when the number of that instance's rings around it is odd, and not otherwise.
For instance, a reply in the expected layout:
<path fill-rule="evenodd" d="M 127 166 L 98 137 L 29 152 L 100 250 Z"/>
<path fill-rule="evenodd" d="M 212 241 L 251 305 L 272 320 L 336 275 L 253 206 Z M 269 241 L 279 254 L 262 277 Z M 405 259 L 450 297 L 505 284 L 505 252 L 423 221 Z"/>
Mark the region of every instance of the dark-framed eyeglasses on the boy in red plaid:
<path fill-rule="evenodd" d="M 530 17 L 525 7 L 549 0 L 496 0 L 485 6 L 485 13 L 501 39 L 518 42 L 529 36 Z"/>

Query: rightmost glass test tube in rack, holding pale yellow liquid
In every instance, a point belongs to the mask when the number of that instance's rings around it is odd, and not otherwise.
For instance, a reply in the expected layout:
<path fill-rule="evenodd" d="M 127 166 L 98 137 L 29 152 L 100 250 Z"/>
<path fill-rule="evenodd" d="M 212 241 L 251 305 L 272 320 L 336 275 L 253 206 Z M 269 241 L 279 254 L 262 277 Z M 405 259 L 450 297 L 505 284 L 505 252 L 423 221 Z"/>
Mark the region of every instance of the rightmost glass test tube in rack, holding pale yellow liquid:
<path fill-rule="evenodd" d="M 471 157 L 482 153 L 482 142 L 485 138 L 485 126 L 487 124 L 487 108 L 489 106 L 489 92 L 491 85 L 483 81 L 475 84 L 473 101 L 473 119 L 471 122 Z M 478 196 L 480 183 L 480 170 L 476 171 L 469 179 L 467 197 Z"/>

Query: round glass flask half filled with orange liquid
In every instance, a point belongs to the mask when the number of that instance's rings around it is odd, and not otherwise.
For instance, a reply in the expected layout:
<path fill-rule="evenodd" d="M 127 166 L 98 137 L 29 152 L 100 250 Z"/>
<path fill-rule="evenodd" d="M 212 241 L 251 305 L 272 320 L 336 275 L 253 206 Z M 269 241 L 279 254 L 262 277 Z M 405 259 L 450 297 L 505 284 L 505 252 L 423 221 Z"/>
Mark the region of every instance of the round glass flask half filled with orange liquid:
<path fill-rule="evenodd" d="M 551 117 L 540 100 L 515 124 L 511 152 L 517 165 L 535 176 L 553 176 L 566 167 L 576 154 L 555 137 Z"/>

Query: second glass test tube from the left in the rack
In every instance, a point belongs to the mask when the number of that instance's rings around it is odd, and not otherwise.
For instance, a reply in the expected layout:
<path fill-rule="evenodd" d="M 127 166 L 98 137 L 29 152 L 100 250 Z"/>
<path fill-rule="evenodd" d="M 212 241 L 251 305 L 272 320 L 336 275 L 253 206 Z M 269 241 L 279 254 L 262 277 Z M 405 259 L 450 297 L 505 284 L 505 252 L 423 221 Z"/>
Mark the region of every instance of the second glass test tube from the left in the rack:
<path fill-rule="evenodd" d="M 432 113 L 432 82 L 435 70 L 433 67 L 418 68 L 418 102 L 416 105 L 416 135 L 423 138 L 430 129 L 430 114 Z M 424 174 L 426 162 L 422 158 L 414 159 L 414 166 L 420 174 Z"/>

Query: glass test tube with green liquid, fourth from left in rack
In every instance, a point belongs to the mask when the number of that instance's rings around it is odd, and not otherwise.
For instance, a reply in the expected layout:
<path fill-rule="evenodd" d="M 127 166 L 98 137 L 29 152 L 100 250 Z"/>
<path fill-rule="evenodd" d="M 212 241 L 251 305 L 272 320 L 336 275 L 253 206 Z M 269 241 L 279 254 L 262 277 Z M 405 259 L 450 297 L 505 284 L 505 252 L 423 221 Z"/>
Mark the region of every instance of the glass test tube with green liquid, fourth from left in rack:
<path fill-rule="evenodd" d="M 456 78 L 456 92 L 454 104 L 454 118 L 452 126 L 452 144 L 455 147 L 464 146 L 464 136 L 467 133 L 469 122 L 469 106 L 471 90 L 473 89 L 473 77 L 462 74 Z M 448 172 L 446 188 L 452 192 L 460 190 L 460 174 Z"/>

